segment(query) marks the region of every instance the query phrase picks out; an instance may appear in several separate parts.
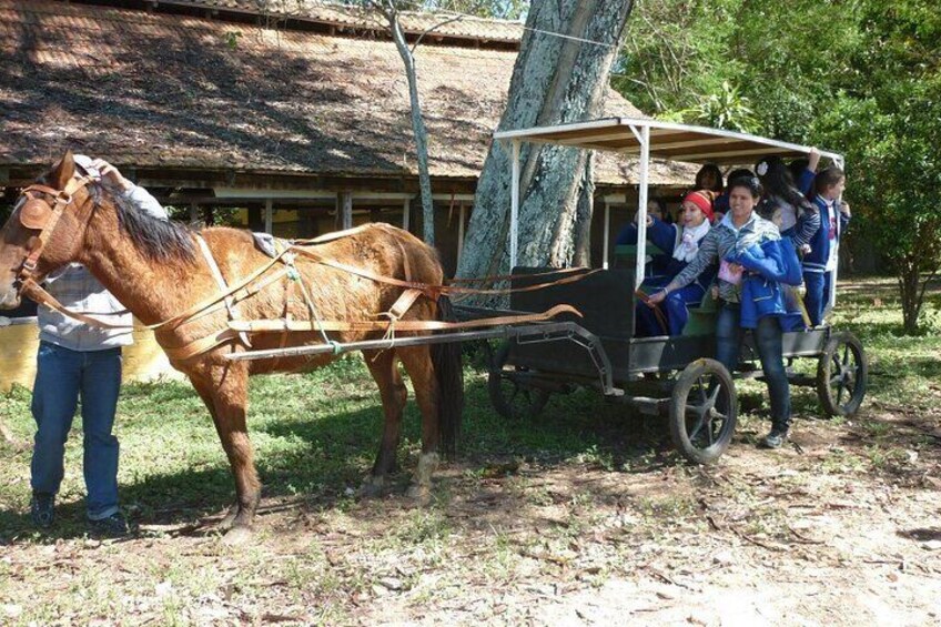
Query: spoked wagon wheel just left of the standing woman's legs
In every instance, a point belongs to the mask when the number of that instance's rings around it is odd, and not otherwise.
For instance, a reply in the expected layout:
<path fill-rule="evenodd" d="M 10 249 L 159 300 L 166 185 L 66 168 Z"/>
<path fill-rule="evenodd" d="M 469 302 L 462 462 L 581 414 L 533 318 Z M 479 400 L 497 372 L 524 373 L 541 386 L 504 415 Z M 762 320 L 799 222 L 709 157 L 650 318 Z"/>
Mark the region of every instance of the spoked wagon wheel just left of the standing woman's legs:
<path fill-rule="evenodd" d="M 715 360 L 686 366 L 670 398 L 670 436 L 682 456 L 711 464 L 726 452 L 735 433 L 738 397 L 729 371 Z"/>

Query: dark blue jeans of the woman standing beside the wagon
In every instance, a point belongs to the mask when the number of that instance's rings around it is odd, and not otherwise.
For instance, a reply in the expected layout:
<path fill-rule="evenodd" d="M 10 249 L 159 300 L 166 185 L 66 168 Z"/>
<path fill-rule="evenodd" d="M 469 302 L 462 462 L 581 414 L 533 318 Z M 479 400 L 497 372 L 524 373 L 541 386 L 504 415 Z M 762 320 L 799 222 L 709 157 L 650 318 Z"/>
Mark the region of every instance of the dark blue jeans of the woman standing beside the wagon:
<path fill-rule="evenodd" d="M 741 351 L 740 314 L 738 303 L 725 303 L 716 322 L 716 358 L 729 372 L 738 365 Z M 777 316 L 765 316 L 758 321 L 753 333 L 771 397 L 771 424 L 776 429 L 787 431 L 791 423 L 791 391 L 785 371 L 781 321 Z"/>

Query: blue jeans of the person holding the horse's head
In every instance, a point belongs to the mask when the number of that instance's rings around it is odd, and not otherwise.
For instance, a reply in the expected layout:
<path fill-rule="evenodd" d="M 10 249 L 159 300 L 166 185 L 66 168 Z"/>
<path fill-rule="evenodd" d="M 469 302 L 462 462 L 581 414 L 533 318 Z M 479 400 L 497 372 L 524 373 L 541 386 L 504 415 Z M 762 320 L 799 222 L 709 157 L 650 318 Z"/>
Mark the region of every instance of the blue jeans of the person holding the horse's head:
<path fill-rule="evenodd" d="M 38 427 L 32 489 L 43 494 L 59 492 L 65 438 L 81 396 L 87 506 L 92 520 L 118 512 L 118 438 L 111 435 L 111 428 L 120 387 L 121 348 L 70 351 L 40 342 L 32 394 L 32 415 Z"/>

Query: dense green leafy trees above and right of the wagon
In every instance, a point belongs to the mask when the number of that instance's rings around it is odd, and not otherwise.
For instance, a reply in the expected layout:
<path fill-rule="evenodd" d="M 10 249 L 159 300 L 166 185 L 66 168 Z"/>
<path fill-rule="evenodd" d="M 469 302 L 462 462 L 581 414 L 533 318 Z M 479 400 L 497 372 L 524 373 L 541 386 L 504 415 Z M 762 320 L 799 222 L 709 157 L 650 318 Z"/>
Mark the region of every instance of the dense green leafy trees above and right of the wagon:
<path fill-rule="evenodd" d="M 941 265 L 933 0 L 638 0 L 615 87 L 657 117 L 847 156 L 854 235 L 897 271 L 904 327 Z"/>

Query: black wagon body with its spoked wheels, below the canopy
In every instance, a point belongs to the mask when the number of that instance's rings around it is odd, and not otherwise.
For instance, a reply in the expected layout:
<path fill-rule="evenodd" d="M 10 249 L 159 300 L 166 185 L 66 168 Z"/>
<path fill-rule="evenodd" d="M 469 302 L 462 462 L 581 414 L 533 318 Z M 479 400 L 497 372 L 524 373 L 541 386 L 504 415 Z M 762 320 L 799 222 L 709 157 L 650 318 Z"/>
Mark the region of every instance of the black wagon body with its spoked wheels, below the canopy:
<path fill-rule="evenodd" d="M 728 447 L 737 421 L 733 375 L 761 376 L 758 353 L 746 334 L 736 373 L 712 360 L 716 354 L 715 311 L 691 310 L 696 321 L 679 336 L 634 337 L 635 273 L 631 267 L 583 270 L 555 274 L 546 267 L 516 267 L 510 309 L 543 312 L 558 304 L 574 306 L 580 316 L 564 314 L 585 333 L 539 325 L 518 330 L 492 356 L 490 400 L 508 418 L 537 414 L 549 395 L 578 386 L 598 390 L 613 401 L 641 412 L 665 415 L 677 448 L 689 459 L 709 463 Z M 564 283 L 534 291 L 526 287 Z M 474 317 L 486 310 L 465 310 Z M 817 375 L 789 370 L 791 385 L 817 388 L 824 413 L 851 415 L 866 391 L 862 346 L 849 334 L 820 326 L 783 334 L 783 355 L 817 361 Z M 651 392 L 651 390 L 654 392 Z"/>

